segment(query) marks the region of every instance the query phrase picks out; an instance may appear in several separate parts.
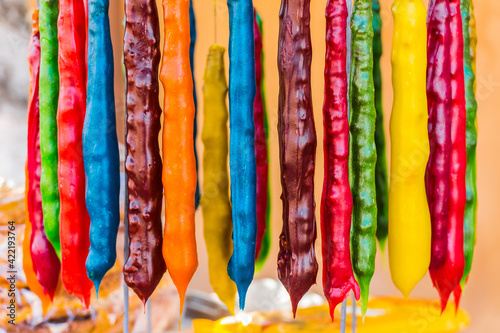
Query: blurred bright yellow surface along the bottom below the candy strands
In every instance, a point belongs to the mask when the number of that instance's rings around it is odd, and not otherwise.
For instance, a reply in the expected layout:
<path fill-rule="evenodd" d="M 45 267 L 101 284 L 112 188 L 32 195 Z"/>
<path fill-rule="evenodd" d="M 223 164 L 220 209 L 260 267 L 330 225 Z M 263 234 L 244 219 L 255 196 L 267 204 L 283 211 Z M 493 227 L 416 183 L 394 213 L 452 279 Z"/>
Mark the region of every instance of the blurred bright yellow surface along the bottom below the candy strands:
<path fill-rule="evenodd" d="M 340 310 L 340 306 L 337 310 Z M 351 332 L 351 313 L 348 306 L 347 332 Z M 358 307 L 359 311 L 359 307 Z M 365 322 L 358 313 L 358 333 L 449 333 L 458 332 L 469 325 L 469 315 L 453 304 L 440 314 L 439 301 L 403 300 L 399 298 L 373 298 L 368 304 Z M 197 319 L 195 333 L 281 333 L 281 332 L 338 332 L 340 312 L 332 323 L 328 306 L 299 309 L 297 318 L 291 312 L 240 313 L 218 321 Z"/>

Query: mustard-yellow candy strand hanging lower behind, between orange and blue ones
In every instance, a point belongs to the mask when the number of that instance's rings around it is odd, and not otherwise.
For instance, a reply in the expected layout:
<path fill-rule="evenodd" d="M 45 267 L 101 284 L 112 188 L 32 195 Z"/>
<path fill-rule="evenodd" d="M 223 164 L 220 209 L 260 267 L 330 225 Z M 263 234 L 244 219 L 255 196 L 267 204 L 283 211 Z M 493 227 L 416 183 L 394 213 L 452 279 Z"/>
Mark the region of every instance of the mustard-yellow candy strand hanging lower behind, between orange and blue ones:
<path fill-rule="evenodd" d="M 227 83 L 224 47 L 212 45 L 208 51 L 203 85 L 203 234 L 208 252 L 210 284 L 228 310 L 234 311 L 236 285 L 227 275 L 233 251 L 231 202 L 227 172 Z"/>

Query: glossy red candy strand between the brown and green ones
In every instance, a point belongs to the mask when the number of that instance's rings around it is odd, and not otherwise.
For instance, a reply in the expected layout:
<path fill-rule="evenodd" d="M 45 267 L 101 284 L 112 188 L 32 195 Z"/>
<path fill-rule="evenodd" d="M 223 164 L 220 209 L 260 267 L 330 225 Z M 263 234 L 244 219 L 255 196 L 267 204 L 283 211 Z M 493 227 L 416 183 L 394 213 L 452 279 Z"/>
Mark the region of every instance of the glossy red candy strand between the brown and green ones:
<path fill-rule="evenodd" d="M 359 286 L 351 264 L 352 196 L 349 186 L 349 121 L 347 117 L 347 2 L 326 5 L 325 93 L 323 102 L 325 178 L 321 198 L 323 291 L 334 320 L 335 307 Z"/>

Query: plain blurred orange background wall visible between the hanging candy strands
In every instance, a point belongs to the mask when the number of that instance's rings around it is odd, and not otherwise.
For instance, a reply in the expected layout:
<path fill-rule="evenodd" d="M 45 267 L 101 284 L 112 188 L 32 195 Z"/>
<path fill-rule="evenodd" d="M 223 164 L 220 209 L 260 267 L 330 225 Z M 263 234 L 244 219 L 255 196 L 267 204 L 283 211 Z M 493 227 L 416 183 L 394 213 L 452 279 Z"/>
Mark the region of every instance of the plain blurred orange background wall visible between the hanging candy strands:
<path fill-rule="evenodd" d="M 32 4 L 33 0 L 29 0 Z M 123 0 L 110 1 L 110 17 L 112 24 L 113 49 L 115 58 L 115 91 L 117 100 L 117 119 L 119 120 L 119 133 L 123 142 L 124 128 L 124 76 L 122 71 L 122 37 L 123 37 Z M 161 1 L 158 8 L 161 11 Z M 392 40 L 392 14 L 390 6 L 392 1 L 381 0 L 381 15 L 383 20 L 382 34 L 384 54 L 382 56 L 382 75 L 384 91 L 384 111 L 388 152 L 390 152 L 390 138 L 388 136 L 389 116 L 392 107 L 392 86 L 390 49 Z M 198 38 L 195 54 L 195 77 L 199 101 L 198 124 L 201 129 L 203 100 L 202 83 L 205 59 L 208 47 L 220 43 L 227 47 L 228 41 L 228 13 L 225 0 L 215 0 L 217 14 L 214 15 L 213 0 L 194 0 L 197 19 Z M 500 313 L 500 223 L 497 223 L 498 204 L 500 204 L 500 158 L 498 157 L 500 113 L 495 110 L 500 106 L 500 1 L 475 0 L 477 32 L 478 32 L 478 58 L 477 58 L 477 99 L 479 104 L 478 123 L 479 140 L 477 147 L 478 164 L 478 234 L 475 260 L 470 275 L 469 283 L 462 297 L 462 306 L 471 314 L 472 324 L 467 332 L 493 332 L 498 327 L 496 318 Z M 267 107 L 270 120 L 270 179 L 272 182 L 272 230 L 273 248 L 263 271 L 258 277 L 276 278 L 276 255 L 278 252 L 278 236 L 281 232 L 281 194 L 278 140 L 277 140 L 277 101 L 278 101 L 278 72 L 276 67 L 277 38 L 278 38 L 278 13 L 280 1 L 254 0 L 264 24 L 264 52 L 266 71 Z M 424 0 L 427 5 L 427 1 Z M 323 66 L 325 52 L 325 10 L 326 0 L 311 1 L 311 33 L 313 46 L 312 62 L 312 91 L 314 98 L 314 113 L 316 120 L 318 149 L 316 157 L 316 200 L 321 198 L 321 185 L 323 182 L 323 130 L 322 130 L 322 104 L 323 104 Z M 216 23 L 216 29 L 215 29 Z M 216 31 L 216 33 L 214 33 Z M 226 54 L 226 71 L 227 71 Z M 160 99 L 162 100 L 162 99 Z M 197 140 L 198 154 L 202 156 L 203 145 L 201 138 Z M 389 156 L 388 156 L 389 157 Z M 201 159 L 200 159 L 201 160 Z M 200 168 L 201 170 L 201 168 Z M 200 179 L 203 174 L 200 173 Z M 319 223 L 319 204 L 317 205 L 317 220 Z M 203 241 L 203 221 L 201 211 L 196 214 L 197 240 L 200 267 L 190 285 L 191 288 L 210 291 L 208 283 L 208 266 L 206 248 Z M 319 225 L 318 225 L 319 226 Z M 320 242 L 316 243 L 318 262 L 321 262 Z M 320 265 L 321 266 L 321 265 Z M 318 285 L 313 289 L 322 291 L 321 271 L 318 274 Z M 377 258 L 376 273 L 371 284 L 372 295 L 399 296 L 393 286 L 386 255 L 379 253 Z M 432 288 L 431 281 L 426 276 L 413 291 L 412 297 L 437 298 L 437 292 Z"/>

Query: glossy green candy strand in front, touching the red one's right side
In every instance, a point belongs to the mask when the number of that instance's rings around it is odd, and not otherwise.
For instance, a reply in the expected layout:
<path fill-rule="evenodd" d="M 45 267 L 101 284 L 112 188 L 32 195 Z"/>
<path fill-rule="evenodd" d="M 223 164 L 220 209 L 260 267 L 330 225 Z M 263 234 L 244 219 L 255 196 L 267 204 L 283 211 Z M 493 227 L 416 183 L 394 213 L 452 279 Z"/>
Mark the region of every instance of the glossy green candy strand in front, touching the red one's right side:
<path fill-rule="evenodd" d="M 375 271 L 377 203 L 375 190 L 375 119 L 372 8 L 370 0 L 355 0 L 351 20 L 352 67 L 349 142 L 353 199 L 351 252 L 354 276 L 361 290 L 361 313 L 366 313 L 370 281 Z"/>

